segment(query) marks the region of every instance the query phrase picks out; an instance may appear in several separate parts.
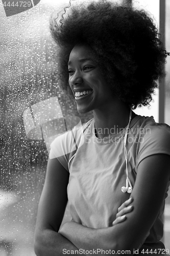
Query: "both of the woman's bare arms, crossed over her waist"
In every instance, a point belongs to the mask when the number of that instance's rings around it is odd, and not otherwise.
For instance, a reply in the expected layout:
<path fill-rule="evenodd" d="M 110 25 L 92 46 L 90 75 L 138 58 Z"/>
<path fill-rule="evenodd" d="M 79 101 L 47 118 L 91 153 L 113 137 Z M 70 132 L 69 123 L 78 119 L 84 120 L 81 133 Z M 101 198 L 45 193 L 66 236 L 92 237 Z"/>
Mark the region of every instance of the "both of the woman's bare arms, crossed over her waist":
<path fill-rule="evenodd" d="M 69 174 L 57 159 L 48 160 L 45 183 L 38 206 L 35 229 L 37 256 L 60 256 L 65 250 L 133 250 L 139 248 L 153 226 L 170 177 L 170 156 L 157 154 L 143 159 L 131 194 L 133 211 L 127 219 L 108 228 L 93 229 L 75 222 L 61 228 L 67 204 Z M 127 203 L 128 205 L 128 203 Z M 126 211 L 123 205 L 121 216 Z M 60 231 L 59 231 L 60 228 Z M 59 231 L 59 232 L 58 232 Z"/>

